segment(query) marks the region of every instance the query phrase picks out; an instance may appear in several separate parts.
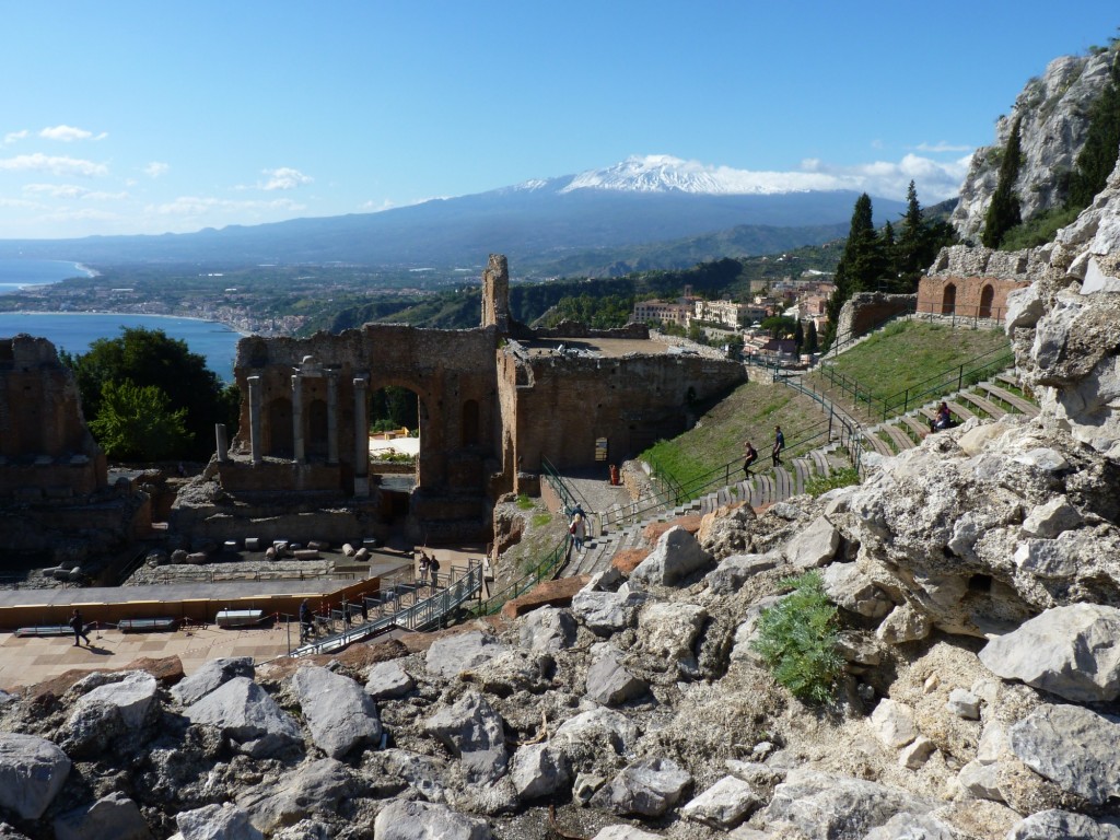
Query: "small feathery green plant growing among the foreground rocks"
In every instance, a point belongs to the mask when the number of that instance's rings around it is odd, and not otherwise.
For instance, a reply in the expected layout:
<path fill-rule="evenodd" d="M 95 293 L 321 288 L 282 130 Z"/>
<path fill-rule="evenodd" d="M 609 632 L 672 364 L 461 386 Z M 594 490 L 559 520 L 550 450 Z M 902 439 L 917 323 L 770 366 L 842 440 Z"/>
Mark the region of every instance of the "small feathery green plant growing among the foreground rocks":
<path fill-rule="evenodd" d="M 785 578 L 782 585 L 793 591 L 763 612 L 750 646 L 794 697 L 825 703 L 843 671 L 843 659 L 837 653 L 837 608 L 824 592 L 820 572 Z"/>

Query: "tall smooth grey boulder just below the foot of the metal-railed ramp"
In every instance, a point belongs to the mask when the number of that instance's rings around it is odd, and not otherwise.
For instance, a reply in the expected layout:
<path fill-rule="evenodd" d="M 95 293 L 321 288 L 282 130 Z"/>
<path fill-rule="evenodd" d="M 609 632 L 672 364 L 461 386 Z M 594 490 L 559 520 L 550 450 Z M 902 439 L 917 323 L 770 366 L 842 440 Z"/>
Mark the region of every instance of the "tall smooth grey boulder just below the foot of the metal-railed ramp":
<path fill-rule="evenodd" d="M 377 707 L 354 680 L 325 668 L 301 668 L 291 678 L 291 688 L 315 746 L 330 758 L 381 741 Z"/>

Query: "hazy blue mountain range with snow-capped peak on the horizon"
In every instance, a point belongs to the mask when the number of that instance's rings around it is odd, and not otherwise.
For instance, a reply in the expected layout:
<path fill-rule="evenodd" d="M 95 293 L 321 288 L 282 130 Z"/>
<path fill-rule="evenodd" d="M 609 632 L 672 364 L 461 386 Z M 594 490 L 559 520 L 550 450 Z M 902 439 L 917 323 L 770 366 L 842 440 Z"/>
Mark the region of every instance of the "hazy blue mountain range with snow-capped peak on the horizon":
<path fill-rule="evenodd" d="M 488 253 L 504 253 L 519 276 L 607 273 L 635 263 L 680 268 L 712 256 L 820 244 L 847 234 L 857 197 L 855 192 L 759 185 L 757 174 L 653 156 L 381 213 L 160 236 L 0 240 L 0 256 L 405 269 L 477 265 Z M 900 202 L 884 198 L 874 198 L 874 206 L 879 221 L 897 220 L 905 211 Z"/>

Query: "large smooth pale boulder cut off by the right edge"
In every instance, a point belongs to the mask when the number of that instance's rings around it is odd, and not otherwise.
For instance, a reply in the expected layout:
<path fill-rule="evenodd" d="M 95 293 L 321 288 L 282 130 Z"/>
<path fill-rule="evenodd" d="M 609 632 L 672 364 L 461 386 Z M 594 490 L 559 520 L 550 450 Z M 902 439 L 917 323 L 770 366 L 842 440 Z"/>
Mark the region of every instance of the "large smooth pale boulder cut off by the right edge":
<path fill-rule="evenodd" d="M 1074 702 L 1120 697 L 1120 609 L 1101 604 L 1054 607 L 993 638 L 980 661 L 1005 680 L 1021 680 Z"/>

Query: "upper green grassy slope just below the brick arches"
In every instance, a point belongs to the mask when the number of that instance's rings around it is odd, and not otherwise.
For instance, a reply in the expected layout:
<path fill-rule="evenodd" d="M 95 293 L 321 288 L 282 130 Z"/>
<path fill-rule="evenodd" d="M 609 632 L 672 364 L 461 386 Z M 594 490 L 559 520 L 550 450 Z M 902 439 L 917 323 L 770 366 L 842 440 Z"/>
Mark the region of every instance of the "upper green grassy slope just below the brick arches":
<path fill-rule="evenodd" d="M 1010 348 L 1001 329 L 953 329 L 942 324 L 896 321 L 841 353 L 830 366 L 884 399 L 984 353 Z M 820 381 L 818 374 L 813 379 Z"/>

